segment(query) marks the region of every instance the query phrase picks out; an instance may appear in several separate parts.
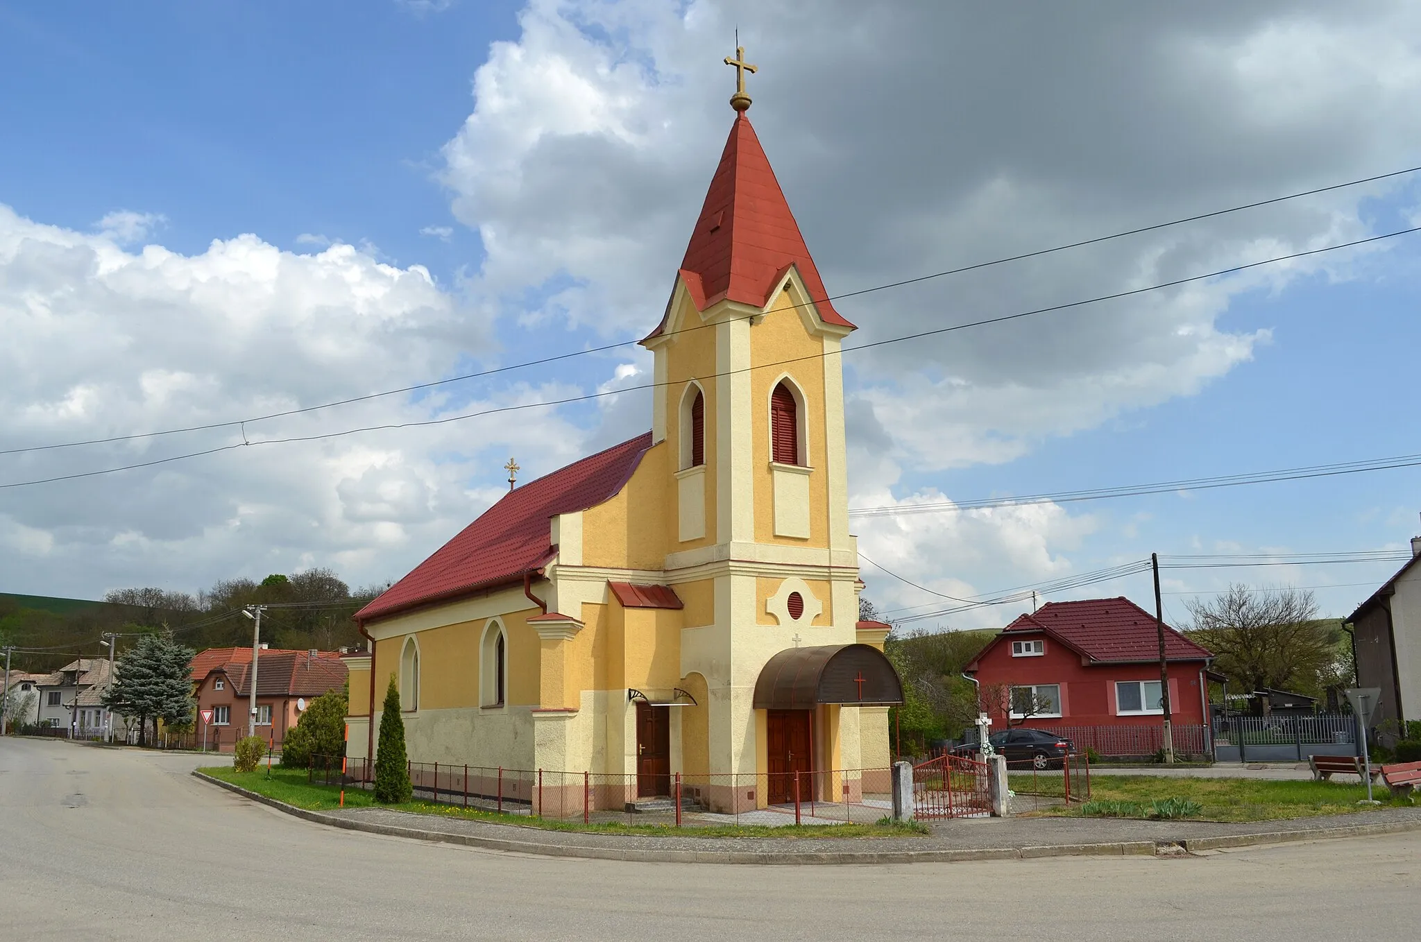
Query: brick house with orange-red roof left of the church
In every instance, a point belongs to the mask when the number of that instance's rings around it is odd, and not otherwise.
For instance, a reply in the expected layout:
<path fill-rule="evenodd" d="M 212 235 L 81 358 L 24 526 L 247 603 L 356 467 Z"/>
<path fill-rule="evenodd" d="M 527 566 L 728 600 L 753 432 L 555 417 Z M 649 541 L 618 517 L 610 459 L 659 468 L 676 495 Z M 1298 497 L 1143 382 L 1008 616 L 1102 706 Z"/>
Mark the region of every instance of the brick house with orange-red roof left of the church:
<path fill-rule="evenodd" d="M 345 683 L 345 662 L 331 651 L 277 651 L 257 655 L 256 735 L 280 749 L 286 730 L 296 726 L 306 705 Z M 252 648 L 209 648 L 192 659 L 198 699 L 196 742 L 209 749 L 232 749 L 247 735 L 252 695 Z M 202 710 L 212 720 L 202 722 Z"/>

